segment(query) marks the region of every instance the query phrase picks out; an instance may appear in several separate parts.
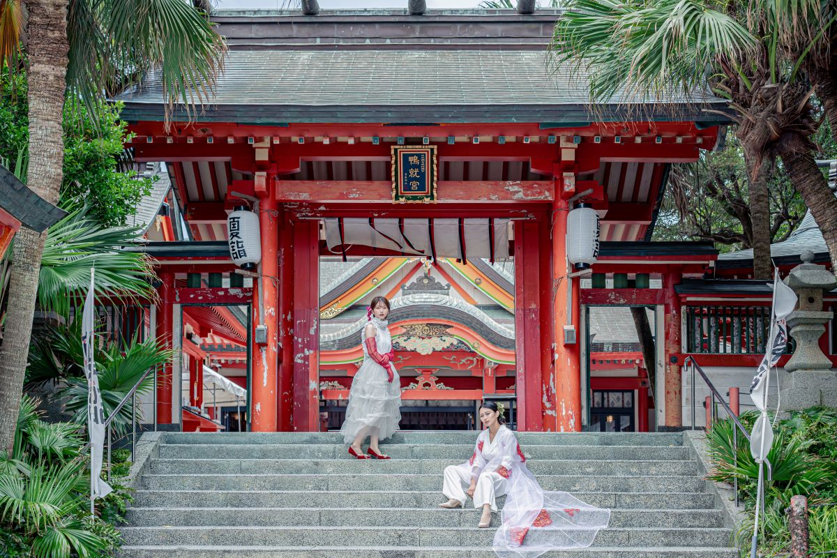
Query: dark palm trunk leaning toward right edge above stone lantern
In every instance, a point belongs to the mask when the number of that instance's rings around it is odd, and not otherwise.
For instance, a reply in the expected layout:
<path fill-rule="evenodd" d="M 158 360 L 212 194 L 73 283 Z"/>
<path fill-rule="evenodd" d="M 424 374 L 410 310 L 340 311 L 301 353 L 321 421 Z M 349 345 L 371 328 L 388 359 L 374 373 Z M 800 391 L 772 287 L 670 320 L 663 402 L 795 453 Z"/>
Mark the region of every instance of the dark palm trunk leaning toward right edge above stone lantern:
<path fill-rule="evenodd" d="M 828 181 L 814 161 L 811 151 L 788 149 L 780 153 L 788 167 L 788 177 L 808 206 L 819 230 L 823 233 L 825 246 L 831 256 L 831 271 L 837 271 L 837 197 L 831 192 Z"/>

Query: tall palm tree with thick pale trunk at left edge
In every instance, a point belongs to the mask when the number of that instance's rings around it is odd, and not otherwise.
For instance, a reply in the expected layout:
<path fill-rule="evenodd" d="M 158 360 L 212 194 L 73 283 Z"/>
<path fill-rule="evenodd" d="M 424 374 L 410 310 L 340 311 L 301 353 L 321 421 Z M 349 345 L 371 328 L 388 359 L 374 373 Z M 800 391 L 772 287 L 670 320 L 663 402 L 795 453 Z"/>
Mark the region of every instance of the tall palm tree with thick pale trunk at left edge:
<path fill-rule="evenodd" d="M 64 99 L 93 106 L 150 69 L 170 108 L 208 99 L 225 46 L 205 13 L 183 0 L 0 0 L 0 57 L 28 76 L 28 187 L 57 202 L 64 159 Z M 25 33 L 23 30 L 25 29 Z M 20 45 L 23 44 L 21 47 Z M 0 59 L 0 66 L 3 59 Z M 95 114 L 95 110 L 90 110 Z M 46 234 L 22 229 L 0 349 L 0 449 L 11 448 Z"/>

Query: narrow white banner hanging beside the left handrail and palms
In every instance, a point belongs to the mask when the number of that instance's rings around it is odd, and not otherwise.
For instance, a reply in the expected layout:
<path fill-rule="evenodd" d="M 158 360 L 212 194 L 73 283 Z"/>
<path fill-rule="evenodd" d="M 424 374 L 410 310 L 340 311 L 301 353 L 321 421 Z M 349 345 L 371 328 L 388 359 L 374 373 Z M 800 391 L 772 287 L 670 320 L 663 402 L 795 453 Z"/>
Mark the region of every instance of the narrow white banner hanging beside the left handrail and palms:
<path fill-rule="evenodd" d="M 105 448 L 105 407 L 99 392 L 99 376 L 93 359 L 94 312 L 93 269 L 90 269 L 90 290 L 85 299 L 85 311 L 81 316 L 81 346 L 85 352 L 85 376 L 87 376 L 87 432 L 90 434 L 90 499 L 104 498 L 113 489 L 101 478 L 102 450 Z M 92 504 L 91 504 L 92 505 Z"/>

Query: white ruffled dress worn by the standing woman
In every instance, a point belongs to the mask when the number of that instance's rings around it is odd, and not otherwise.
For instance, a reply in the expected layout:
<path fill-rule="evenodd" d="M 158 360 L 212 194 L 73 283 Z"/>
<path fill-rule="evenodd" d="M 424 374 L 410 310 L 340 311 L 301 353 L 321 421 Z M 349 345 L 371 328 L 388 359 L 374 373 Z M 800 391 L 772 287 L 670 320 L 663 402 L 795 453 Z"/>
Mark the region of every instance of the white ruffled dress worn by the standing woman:
<path fill-rule="evenodd" d="M 377 352 L 383 355 L 393 348 L 387 322 L 372 317 L 375 326 Z M 365 326 L 364 326 L 365 327 Z M 401 422 L 401 381 L 393 366 L 393 381 L 388 380 L 386 369 L 369 356 L 365 335 L 361 330 L 363 364 L 352 379 L 346 420 L 340 428 L 345 443 L 352 443 L 358 435 L 377 434 L 380 439 L 389 438 L 398 430 Z M 376 432 L 377 430 L 377 432 Z"/>

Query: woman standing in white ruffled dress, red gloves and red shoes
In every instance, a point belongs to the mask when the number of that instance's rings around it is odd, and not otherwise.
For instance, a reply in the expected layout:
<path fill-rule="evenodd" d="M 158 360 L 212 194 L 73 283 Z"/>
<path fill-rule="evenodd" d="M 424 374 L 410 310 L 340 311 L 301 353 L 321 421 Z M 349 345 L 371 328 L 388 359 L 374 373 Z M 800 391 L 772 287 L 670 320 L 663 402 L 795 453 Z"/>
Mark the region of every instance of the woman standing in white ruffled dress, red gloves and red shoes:
<path fill-rule="evenodd" d="M 352 444 L 349 453 L 358 459 L 388 459 L 377 443 L 392 436 L 401 422 L 401 380 L 391 362 L 395 355 L 388 315 L 389 300 L 383 296 L 372 299 L 362 332 L 363 364 L 352 380 L 346 420 L 340 428 L 343 441 Z M 368 455 L 362 449 L 367 436 Z"/>

